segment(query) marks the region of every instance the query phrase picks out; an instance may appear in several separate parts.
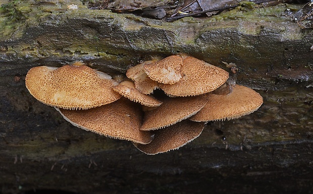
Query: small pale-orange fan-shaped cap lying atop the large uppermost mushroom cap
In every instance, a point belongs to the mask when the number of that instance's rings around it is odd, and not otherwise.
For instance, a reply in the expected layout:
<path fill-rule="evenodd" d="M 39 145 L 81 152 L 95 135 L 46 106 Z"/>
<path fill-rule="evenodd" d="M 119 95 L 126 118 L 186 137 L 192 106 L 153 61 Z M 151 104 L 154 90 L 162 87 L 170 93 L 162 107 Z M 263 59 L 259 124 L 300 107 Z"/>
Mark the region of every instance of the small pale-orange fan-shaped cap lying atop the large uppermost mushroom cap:
<path fill-rule="evenodd" d="M 173 84 L 182 78 L 180 73 L 182 64 L 181 57 L 172 55 L 154 63 L 144 64 L 143 68 L 152 80 L 164 84 Z"/>

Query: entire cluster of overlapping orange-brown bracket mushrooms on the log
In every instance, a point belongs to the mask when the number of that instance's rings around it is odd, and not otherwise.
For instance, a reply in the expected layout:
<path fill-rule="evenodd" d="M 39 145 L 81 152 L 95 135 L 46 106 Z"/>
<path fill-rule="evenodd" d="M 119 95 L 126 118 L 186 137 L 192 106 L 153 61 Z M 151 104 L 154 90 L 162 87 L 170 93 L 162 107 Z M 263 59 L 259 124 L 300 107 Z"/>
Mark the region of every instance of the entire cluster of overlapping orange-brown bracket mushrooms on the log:
<path fill-rule="evenodd" d="M 227 71 L 183 54 L 145 61 L 126 76 L 118 83 L 74 63 L 31 68 L 25 83 L 34 98 L 74 126 L 130 140 L 149 155 L 184 146 L 205 122 L 238 118 L 263 103 L 254 90 L 230 84 Z M 220 92 L 225 88 L 227 94 Z"/>

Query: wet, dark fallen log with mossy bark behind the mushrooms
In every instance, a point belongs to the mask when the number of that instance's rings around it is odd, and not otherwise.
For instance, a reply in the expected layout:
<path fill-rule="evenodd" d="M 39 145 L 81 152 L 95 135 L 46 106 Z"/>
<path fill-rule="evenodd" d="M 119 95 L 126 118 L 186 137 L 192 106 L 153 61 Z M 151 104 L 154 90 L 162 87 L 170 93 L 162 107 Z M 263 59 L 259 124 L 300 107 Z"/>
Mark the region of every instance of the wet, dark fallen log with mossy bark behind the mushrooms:
<path fill-rule="evenodd" d="M 68 10 L 70 4 L 79 9 Z M 241 8 L 172 23 L 88 10 L 80 1 L 10 6 L 2 8 L 0 24 L 3 193 L 193 193 L 192 187 L 277 193 L 313 186 L 312 30 L 291 21 L 301 6 Z M 251 115 L 208 123 L 179 150 L 148 156 L 131 142 L 72 126 L 25 87 L 34 66 L 83 61 L 115 75 L 150 56 L 178 52 L 224 69 L 222 61 L 235 63 L 237 83 L 258 91 L 264 104 Z"/>

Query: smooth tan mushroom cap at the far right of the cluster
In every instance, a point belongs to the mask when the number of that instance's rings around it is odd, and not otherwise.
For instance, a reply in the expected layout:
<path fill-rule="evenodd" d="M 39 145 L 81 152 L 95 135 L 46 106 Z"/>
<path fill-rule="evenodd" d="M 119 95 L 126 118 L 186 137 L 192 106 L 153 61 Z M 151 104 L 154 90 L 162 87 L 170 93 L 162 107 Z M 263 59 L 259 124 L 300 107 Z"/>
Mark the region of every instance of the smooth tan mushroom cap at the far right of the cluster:
<path fill-rule="evenodd" d="M 192 121 L 236 119 L 256 111 L 262 104 L 263 98 L 259 93 L 236 84 L 228 95 L 210 94 L 208 103 L 189 119 Z"/>

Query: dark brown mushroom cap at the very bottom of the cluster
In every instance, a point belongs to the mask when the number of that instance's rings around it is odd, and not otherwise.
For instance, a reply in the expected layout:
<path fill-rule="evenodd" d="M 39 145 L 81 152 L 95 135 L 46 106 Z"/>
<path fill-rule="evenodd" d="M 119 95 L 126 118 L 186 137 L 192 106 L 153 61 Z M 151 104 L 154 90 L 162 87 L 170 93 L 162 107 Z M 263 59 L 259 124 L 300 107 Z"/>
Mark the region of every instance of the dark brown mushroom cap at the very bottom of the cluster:
<path fill-rule="evenodd" d="M 175 125 L 153 131 L 154 138 L 148 144 L 133 143 L 141 152 L 154 155 L 179 149 L 197 138 L 204 128 L 204 122 L 183 120 Z"/>

